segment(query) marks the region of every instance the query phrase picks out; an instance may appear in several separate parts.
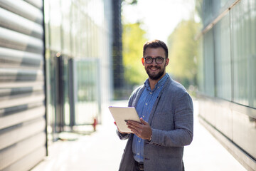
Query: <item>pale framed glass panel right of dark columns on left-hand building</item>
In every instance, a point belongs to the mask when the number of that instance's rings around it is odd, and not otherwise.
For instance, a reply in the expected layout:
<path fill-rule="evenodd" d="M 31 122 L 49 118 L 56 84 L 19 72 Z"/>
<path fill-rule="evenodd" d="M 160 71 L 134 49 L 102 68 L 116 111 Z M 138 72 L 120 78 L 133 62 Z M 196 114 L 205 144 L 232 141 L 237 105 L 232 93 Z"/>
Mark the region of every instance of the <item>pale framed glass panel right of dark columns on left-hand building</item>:
<path fill-rule="evenodd" d="M 98 61 L 93 59 L 80 59 L 77 65 L 77 90 L 75 103 L 75 123 L 78 125 L 90 124 L 100 112 L 100 98 L 98 86 Z M 86 112 L 85 112 L 86 111 Z"/>

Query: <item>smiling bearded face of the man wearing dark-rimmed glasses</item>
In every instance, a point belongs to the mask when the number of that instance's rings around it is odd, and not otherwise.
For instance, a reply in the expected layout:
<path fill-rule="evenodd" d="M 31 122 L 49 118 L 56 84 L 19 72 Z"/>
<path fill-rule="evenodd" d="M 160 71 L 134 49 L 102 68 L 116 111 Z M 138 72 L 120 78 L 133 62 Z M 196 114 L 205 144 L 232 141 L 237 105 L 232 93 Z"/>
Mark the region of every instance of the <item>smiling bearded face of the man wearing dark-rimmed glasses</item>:
<path fill-rule="evenodd" d="M 151 57 L 162 57 L 164 58 L 163 63 L 157 64 L 156 60 L 153 60 L 152 63 L 148 64 L 144 59 L 142 59 L 142 64 L 145 67 L 146 73 L 148 74 L 151 80 L 158 81 L 160 80 L 166 73 L 166 66 L 169 63 L 169 58 L 166 58 L 164 53 L 164 48 L 146 48 L 144 53 L 144 58 Z"/>

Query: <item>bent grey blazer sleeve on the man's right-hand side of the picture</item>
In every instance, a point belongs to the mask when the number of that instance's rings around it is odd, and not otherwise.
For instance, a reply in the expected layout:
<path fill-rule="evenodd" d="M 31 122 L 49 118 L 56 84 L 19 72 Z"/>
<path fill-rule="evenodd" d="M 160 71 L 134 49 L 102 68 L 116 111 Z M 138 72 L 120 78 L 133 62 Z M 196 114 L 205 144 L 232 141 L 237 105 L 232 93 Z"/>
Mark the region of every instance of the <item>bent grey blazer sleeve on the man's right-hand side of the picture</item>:
<path fill-rule="evenodd" d="M 149 142 L 150 144 L 166 147 L 182 147 L 192 142 L 192 99 L 188 93 L 185 93 L 174 104 L 174 130 L 158 130 L 152 128 L 152 140 Z"/>

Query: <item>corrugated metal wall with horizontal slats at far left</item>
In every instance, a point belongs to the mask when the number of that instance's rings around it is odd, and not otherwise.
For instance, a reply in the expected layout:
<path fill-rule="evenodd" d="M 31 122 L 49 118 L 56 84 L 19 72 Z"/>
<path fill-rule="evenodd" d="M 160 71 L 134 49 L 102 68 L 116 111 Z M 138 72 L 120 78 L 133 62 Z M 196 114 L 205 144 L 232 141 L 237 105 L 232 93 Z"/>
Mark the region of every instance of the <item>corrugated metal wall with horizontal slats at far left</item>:
<path fill-rule="evenodd" d="M 43 0 L 0 0 L 0 170 L 46 155 Z"/>

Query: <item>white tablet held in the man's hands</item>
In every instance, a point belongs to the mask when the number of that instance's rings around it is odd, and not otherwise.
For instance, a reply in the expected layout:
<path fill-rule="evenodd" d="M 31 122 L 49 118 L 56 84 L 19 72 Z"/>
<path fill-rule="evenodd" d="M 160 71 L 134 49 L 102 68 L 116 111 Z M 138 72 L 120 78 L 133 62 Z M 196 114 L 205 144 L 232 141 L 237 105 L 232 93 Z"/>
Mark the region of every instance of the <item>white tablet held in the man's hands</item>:
<path fill-rule="evenodd" d="M 109 109 L 121 132 L 132 133 L 131 130 L 127 128 L 126 120 L 134 120 L 141 123 L 139 115 L 134 107 L 109 106 Z"/>

